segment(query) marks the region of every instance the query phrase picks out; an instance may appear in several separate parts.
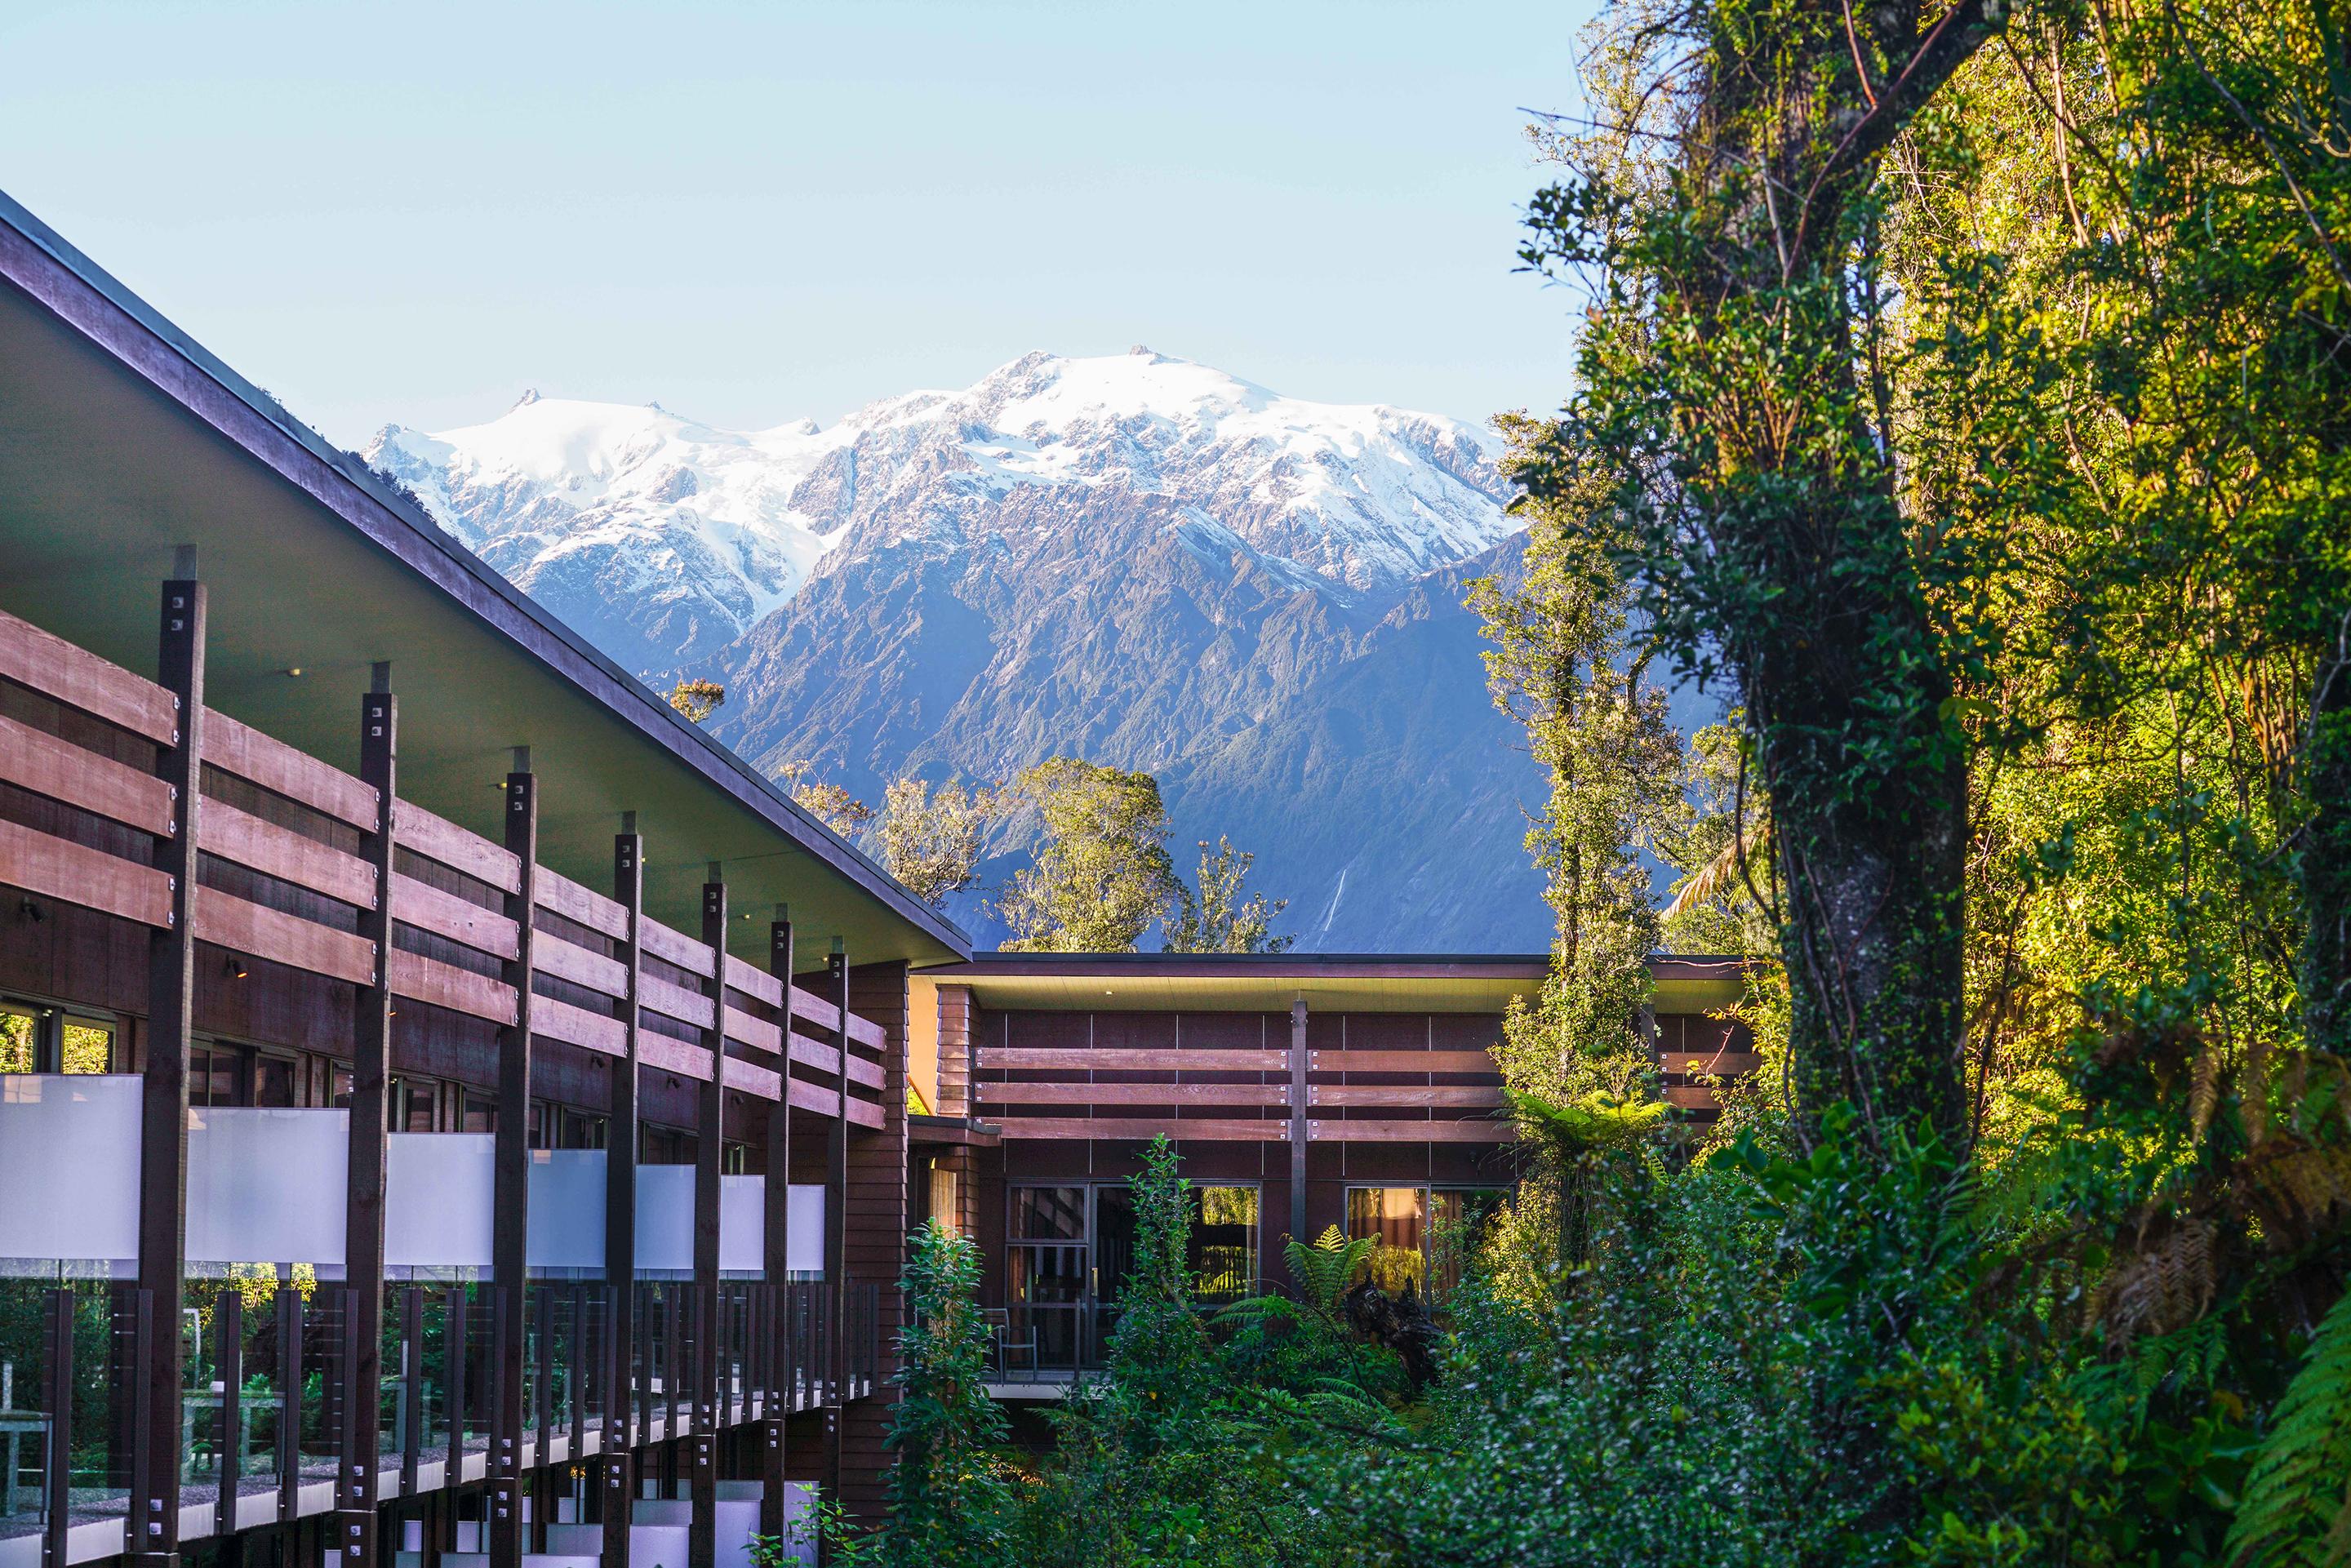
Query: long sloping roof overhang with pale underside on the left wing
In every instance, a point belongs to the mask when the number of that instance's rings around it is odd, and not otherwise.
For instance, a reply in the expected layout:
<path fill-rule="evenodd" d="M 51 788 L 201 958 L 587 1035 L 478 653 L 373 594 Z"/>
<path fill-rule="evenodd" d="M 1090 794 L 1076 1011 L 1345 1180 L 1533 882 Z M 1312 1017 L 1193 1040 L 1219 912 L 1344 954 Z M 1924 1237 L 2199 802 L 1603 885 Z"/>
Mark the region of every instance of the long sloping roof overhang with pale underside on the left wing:
<path fill-rule="evenodd" d="M 510 748 L 541 780 L 541 860 L 609 886 L 623 811 L 647 837 L 647 912 L 701 922 L 705 865 L 764 961 L 802 943 L 936 964 L 971 940 L 750 764 L 534 604 L 45 223 L 0 195 L 0 609 L 155 672 L 158 583 L 195 545 L 207 698 L 341 769 L 390 661 L 400 795 L 498 837 Z M 292 675 L 301 670 L 301 675 Z"/>

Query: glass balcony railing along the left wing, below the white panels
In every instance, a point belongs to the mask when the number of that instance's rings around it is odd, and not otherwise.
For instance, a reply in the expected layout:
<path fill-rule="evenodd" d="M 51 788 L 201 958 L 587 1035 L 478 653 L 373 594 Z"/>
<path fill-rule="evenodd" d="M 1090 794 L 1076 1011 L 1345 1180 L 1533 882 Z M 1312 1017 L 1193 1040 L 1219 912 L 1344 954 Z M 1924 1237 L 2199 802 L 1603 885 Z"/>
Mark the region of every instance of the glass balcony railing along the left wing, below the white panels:
<path fill-rule="evenodd" d="M 350 1291 L 200 1284 L 209 1300 L 190 1307 L 181 1326 L 181 1495 L 212 1502 L 219 1533 L 294 1519 L 299 1488 L 336 1476 L 346 1403 L 367 1399 L 355 1387 Z M 33 1291 L 7 1281 L 5 1288 L 12 1293 L 0 1300 L 5 1319 L 24 1333 L 0 1333 L 0 1537 L 120 1519 L 136 1465 L 125 1436 L 127 1401 L 146 1380 L 158 1333 L 143 1312 L 146 1293 L 106 1284 Z M 637 1333 L 621 1359 L 609 1286 L 531 1281 L 527 1288 L 522 1434 L 531 1465 L 600 1453 L 614 1406 L 630 1446 L 686 1432 L 696 1286 L 639 1281 L 635 1291 Z M 835 1389 L 825 1284 L 729 1281 L 715 1312 L 712 1425 L 872 1394 L 879 1286 L 851 1281 L 846 1295 L 846 1380 Z M 503 1312 L 496 1286 L 393 1291 L 374 1389 L 386 1497 L 482 1476 Z M 625 1392 L 616 1394 L 623 1378 Z M 54 1458 L 59 1441 L 68 1455 L 63 1469 Z"/>

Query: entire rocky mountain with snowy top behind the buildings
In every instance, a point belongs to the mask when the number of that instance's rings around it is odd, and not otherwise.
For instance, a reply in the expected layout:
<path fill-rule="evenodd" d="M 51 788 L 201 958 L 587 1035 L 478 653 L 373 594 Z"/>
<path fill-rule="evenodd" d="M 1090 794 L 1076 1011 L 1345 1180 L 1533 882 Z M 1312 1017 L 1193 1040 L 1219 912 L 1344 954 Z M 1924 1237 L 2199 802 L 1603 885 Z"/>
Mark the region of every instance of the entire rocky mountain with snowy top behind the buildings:
<path fill-rule="evenodd" d="M 748 435 L 527 395 L 367 456 L 618 663 L 724 679 L 712 726 L 769 771 L 879 799 L 1150 769 L 1178 865 L 1255 851 L 1305 950 L 1547 943 L 1540 780 L 1460 607 L 1514 562 L 1479 430 L 1136 350 Z M 952 912 L 992 945 L 978 898 Z"/>

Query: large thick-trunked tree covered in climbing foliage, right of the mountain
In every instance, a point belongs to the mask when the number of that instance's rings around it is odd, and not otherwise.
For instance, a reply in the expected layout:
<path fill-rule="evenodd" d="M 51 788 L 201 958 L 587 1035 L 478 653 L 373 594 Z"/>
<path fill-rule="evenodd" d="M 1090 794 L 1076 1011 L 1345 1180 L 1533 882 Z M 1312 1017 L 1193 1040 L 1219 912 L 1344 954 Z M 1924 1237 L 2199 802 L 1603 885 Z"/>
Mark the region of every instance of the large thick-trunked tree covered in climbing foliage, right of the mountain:
<path fill-rule="evenodd" d="M 1874 179 L 2001 14 L 1625 16 L 1613 120 L 1568 150 L 1526 247 L 1594 296 L 1531 487 L 1575 498 L 1596 475 L 1662 646 L 1737 679 L 1777 811 L 1801 1103 L 1857 1105 L 1871 1140 L 1958 1131 L 1965 851 L 1965 654 L 1930 614 L 1956 555 L 1900 508 Z"/>

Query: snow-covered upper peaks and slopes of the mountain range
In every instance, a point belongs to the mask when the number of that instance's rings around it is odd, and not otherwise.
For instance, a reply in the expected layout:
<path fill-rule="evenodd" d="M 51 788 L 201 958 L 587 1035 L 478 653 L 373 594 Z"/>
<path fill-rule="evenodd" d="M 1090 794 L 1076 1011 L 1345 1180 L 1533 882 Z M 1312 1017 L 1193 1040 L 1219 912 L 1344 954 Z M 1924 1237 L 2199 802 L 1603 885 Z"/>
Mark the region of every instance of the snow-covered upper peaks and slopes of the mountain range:
<path fill-rule="evenodd" d="M 734 433 L 661 404 L 527 393 L 484 425 L 386 425 L 367 458 L 524 590 L 592 604 L 583 630 L 639 670 L 748 632 L 837 543 L 924 531 L 964 548 L 1060 494 L 1171 501 L 1206 534 L 1352 592 L 1512 531 L 1493 440 L 1469 425 L 1300 402 L 1143 348 L 1027 355 L 964 393 L 891 397 L 830 428 Z"/>

